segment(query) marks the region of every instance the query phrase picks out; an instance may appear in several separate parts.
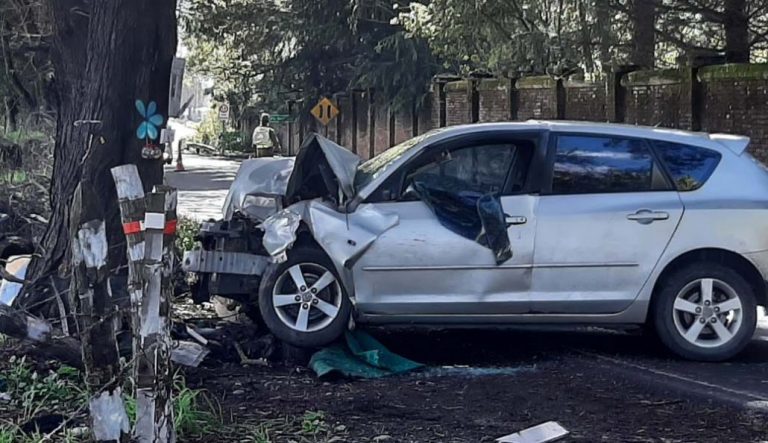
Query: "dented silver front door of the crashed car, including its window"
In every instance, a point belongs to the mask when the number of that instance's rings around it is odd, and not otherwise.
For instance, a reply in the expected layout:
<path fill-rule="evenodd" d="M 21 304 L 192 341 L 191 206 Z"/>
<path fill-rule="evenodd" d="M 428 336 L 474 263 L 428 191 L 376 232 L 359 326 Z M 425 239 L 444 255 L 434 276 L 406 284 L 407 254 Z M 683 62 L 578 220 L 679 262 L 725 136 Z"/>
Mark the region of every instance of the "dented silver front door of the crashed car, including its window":
<path fill-rule="evenodd" d="M 428 315 L 440 321 L 527 311 L 538 199 L 527 192 L 527 178 L 540 137 L 509 133 L 438 143 L 394 173 L 383 185 L 391 187 L 384 194 L 393 198 L 374 204 L 396 213 L 399 223 L 355 264 L 358 309 L 366 315 Z M 444 227 L 427 204 L 409 194 L 410 180 L 424 173 L 503 194 L 512 258 L 497 264 L 490 249 Z"/>

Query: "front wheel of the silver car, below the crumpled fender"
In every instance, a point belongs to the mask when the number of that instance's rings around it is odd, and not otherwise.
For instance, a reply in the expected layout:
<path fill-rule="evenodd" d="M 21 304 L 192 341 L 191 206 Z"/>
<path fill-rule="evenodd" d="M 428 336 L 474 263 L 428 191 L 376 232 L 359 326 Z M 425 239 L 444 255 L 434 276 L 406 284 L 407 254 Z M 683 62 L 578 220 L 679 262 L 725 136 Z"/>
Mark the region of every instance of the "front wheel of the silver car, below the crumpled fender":
<path fill-rule="evenodd" d="M 277 338 L 294 346 L 315 348 L 334 342 L 344 333 L 352 304 L 325 253 L 295 247 L 288 260 L 269 266 L 262 276 L 259 310 Z"/>

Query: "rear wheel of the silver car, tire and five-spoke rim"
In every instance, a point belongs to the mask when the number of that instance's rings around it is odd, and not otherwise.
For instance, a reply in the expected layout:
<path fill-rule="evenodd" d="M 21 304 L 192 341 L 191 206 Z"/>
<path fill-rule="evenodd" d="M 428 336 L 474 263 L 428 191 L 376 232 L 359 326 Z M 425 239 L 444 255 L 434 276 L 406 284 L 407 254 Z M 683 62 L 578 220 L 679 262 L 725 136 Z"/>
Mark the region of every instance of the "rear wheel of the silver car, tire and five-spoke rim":
<path fill-rule="evenodd" d="M 693 263 L 661 282 L 651 315 L 659 339 L 675 354 L 723 361 L 752 339 L 757 298 L 736 270 L 719 263 Z"/>

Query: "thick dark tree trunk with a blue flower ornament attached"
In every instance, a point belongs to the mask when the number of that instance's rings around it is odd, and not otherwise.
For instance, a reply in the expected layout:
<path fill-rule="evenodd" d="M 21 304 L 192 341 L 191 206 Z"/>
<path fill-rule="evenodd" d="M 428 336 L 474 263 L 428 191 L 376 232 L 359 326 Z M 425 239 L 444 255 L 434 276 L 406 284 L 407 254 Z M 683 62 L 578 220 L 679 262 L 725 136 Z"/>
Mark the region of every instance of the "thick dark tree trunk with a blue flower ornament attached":
<path fill-rule="evenodd" d="M 165 123 L 176 51 L 176 0 L 49 3 L 59 95 L 51 217 L 37 251 L 40 257 L 30 265 L 33 284 L 19 298 L 22 306 L 47 298 L 45 288 L 35 282 L 71 271 L 69 215 L 81 181 L 98 193 L 110 246 L 110 285 L 125 296 L 125 236 L 110 168 L 136 164 L 147 190 L 161 184 L 162 161 L 141 157 L 144 140 L 136 137 L 136 129 L 144 117 L 134 103 L 156 102 Z"/>

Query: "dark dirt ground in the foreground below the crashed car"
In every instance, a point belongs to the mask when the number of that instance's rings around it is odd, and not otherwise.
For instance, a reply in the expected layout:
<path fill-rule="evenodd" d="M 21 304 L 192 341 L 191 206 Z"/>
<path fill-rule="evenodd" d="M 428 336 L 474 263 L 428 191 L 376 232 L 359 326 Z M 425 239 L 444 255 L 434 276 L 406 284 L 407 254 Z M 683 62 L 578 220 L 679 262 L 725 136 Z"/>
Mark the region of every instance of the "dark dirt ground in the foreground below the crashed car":
<path fill-rule="evenodd" d="M 305 369 L 205 365 L 186 371 L 229 424 L 201 442 L 261 441 L 259 423 L 321 412 L 323 430 L 297 437 L 274 427 L 271 441 L 491 442 L 555 420 L 579 442 L 760 442 L 766 417 L 638 380 L 572 352 L 555 332 L 401 332 L 378 337 L 424 371 L 378 380 L 320 381 Z M 570 338 L 569 338 L 570 337 Z M 471 367 L 461 365 L 471 364 Z M 480 368 L 480 369 L 478 369 Z M 287 429 L 287 428 L 286 428 Z"/>

